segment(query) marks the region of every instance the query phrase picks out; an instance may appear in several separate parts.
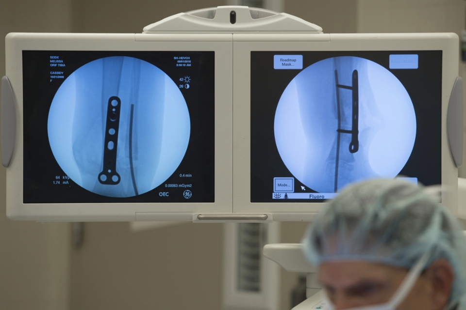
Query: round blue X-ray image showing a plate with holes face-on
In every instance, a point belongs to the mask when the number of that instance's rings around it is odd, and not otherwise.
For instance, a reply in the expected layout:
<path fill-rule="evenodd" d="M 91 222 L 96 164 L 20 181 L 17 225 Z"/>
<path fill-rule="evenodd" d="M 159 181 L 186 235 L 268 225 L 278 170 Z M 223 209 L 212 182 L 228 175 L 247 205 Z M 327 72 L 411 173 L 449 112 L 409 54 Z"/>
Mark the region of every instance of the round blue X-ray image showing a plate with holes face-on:
<path fill-rule="evenodd" d="M 131 197 L 178 168 L 190 138 L 183 94 L 166 73 L 133 57 L 101 58 L 74 71 L 50 106 L 52 153 L 79 186 Z"/>

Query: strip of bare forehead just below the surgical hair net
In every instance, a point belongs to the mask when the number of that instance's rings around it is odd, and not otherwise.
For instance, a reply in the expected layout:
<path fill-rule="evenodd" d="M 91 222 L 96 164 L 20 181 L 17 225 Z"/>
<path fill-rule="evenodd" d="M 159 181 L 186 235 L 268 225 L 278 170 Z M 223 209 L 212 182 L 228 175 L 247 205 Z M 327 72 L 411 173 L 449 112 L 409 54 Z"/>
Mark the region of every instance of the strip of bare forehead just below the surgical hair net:
<path fill-rule="evenodd" d="M 332 261 L 319 266 L 319 280 L 334 286 L 348 286 L 361 281 L 384 281 L 402 277 L 407 270 L 383 263 Z"/>

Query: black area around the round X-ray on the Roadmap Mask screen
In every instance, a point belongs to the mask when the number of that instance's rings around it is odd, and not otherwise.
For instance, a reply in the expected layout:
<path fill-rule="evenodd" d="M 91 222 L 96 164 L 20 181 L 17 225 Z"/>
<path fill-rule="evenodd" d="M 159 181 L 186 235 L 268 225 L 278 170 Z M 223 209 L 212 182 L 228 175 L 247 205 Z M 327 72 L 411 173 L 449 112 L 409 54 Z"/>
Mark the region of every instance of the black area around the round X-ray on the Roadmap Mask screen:
<path fill-rule="evenodd" d="M 389 55 L 417 54 L 418 69 L 389 69 Z M 403 84 L 416 113 L 416 141 L 400 175 L 416 177 L 428 186 L 441 184 L 442 51 L 252 51 L 251 52 L 251 202 L 272 199 L 274 177 L 294 177 L 278 153 L 274 118 L 286 86 L 302 70 L 275 70 L 274 55 L 303 55 L 303 69 L 337 56 L 356 56 L 376 62 Z M 295 192 L 305 186 L 295 178 Z M 306 187 L 306 192 L 316 192 Z M 322 202 L 293 199 L 289 202 Z"/>

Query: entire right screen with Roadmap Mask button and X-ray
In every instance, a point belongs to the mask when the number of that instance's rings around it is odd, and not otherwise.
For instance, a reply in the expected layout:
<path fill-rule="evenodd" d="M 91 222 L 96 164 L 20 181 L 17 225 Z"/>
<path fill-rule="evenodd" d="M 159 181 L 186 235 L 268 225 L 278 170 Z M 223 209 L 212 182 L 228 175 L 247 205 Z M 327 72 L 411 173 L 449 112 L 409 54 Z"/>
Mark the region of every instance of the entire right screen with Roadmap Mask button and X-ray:
<path fill-rule="evenodd" d="M 251 202 L 441 183 L 442 51 L 251 52 Z"/>

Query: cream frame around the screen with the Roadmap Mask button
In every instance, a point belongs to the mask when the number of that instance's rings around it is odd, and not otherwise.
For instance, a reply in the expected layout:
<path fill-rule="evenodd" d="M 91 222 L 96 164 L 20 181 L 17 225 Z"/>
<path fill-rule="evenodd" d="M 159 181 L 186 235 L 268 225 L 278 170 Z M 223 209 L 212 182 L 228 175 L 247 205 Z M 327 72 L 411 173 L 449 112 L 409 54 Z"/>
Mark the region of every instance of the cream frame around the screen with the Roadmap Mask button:
<path fill-rule="evenodd" d="M 233 35 L 233 212 L 270 213 L 274 220 L 314 220 L 325 202 L 250 202 L 251 51 L 442 51 L 442 202 L 457 213 L 458 169 L 450 152 L 447 112 L 458 77 L 454 33 L 234 34 Z"/>

